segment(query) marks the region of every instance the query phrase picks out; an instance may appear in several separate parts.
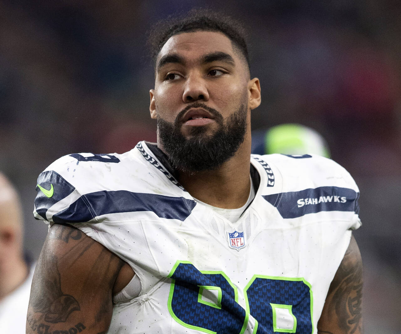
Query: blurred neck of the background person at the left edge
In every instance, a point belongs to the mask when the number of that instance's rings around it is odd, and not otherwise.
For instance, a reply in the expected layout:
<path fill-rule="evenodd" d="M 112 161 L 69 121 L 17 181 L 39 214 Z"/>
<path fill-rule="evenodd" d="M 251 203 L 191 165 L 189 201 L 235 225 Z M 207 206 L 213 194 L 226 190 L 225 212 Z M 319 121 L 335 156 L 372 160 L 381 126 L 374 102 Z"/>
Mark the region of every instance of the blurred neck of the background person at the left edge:
<path fill-rule="evenodd" d="M 28 266 L 22 258 L 2 263 L 0 268 L 0 300 L 20 286 L 28 275 Z"/>

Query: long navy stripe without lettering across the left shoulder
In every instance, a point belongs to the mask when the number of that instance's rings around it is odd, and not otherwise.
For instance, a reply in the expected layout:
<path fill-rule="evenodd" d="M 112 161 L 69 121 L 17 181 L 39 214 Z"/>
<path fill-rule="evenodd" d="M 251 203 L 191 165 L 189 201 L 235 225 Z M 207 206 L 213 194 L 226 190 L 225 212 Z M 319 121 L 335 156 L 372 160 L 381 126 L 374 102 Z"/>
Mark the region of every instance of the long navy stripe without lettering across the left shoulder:
<path fill-rule="evenodd" d="M 108 213 L 151 211 L 160 218 L 184 221 L 196 202 L 184 197 L 170 197 L 126 190 L 97 191 L 81 196 L 67 209 L 53 215 L 55 223 L 85 222 Z"/>

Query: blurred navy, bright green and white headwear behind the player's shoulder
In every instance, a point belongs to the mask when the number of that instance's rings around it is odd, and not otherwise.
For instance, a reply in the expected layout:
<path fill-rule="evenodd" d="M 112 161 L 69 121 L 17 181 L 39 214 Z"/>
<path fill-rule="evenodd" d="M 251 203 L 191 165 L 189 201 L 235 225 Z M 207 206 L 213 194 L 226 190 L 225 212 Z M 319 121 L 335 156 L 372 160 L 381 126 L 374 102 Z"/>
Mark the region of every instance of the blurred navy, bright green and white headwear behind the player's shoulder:
<path fill-rule="evenodd" d="M 252 131 L 253 154 L 318 154 L 330 158 L 326 140 L 316 130 L 301 124 L 280 124 Z"/>

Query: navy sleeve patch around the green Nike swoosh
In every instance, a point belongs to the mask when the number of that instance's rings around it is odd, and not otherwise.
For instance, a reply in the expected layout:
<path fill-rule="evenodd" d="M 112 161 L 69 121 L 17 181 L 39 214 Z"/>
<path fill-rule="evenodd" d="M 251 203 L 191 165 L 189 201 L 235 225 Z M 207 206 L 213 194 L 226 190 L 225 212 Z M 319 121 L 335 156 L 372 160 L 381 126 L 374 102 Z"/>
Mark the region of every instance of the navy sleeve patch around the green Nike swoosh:
<path fill-rule="evenodd" d="M 38 193 L 34 201 L 35 209 L 43 219 L 47 220 L 46 212 L 49 207 L 71 194 L 75 187 L 55 171 L 44 171 L 43 173 L 40 173 L 37 182 L 38 185 L 45 189 L 45 192 L 46 190 L 49 191 L 46 192 L 46 196 L 45 193 L 36 185 L 36 191 Z"/>

